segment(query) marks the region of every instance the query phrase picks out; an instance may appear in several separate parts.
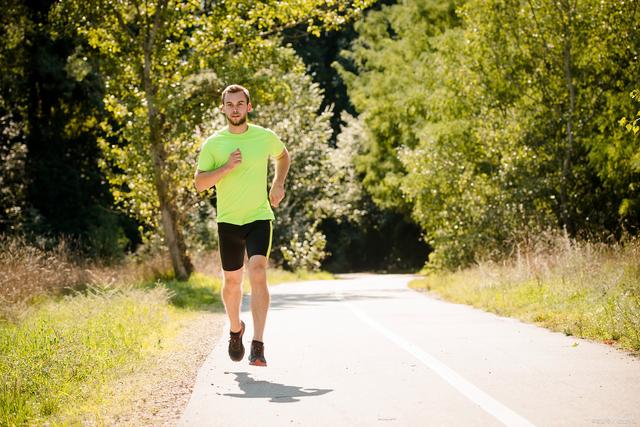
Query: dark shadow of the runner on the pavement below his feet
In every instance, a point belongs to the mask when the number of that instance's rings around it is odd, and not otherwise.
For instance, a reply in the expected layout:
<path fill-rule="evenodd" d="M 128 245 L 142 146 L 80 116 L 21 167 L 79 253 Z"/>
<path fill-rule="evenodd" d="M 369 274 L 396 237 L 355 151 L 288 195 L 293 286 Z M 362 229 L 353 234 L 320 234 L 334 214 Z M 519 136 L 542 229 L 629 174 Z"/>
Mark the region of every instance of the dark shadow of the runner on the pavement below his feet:
<path fill-rule="evenodd" d="M 248 372 L 231 372 L 236 376 L 236 381 L 240 386 L 240 390 L 244 394 L 239 393 L 226 393 L 224 396 L 229 397 L 241 397 L 241 398 L 253 398 L 253 399 L 271 399 L 269 402 L 275 403 L 291 403 L 299 402 L 300 397 L 322 396 L 327 394 L 332 389 L 320 389 L 320 388 L 306 388 L 292 385 L 284 385 L 278 383 L 271 383 L 269 381 L 256 381 L 249 375 Z"/>

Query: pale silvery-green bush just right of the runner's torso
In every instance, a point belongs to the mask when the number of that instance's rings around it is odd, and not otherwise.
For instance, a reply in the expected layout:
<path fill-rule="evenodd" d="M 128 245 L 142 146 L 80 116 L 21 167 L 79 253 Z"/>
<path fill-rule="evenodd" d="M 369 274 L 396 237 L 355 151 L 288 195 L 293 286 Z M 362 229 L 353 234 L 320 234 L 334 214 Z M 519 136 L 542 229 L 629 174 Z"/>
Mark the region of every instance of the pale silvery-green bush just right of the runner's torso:
<path fill-rule="evenodd" d="M 338 190 L 332 181 L 336 168 L 329 147 L 330 111 L 318 114 L 322 94 L 303 72 L 284 76 L 289 86 L 287 92 L 277 96 L 277 101 L 260 106 L 255 114 L 258 123 L 271 128 L 282 139 L 292 160 L 286 197 L 275 209 L 273 246 L 280 248 L 281 253 L 273 255 L 292 270 L 316 270 L 326 256 L 325 236 L 317 225 L 339 203 L 334 199 Z"/>

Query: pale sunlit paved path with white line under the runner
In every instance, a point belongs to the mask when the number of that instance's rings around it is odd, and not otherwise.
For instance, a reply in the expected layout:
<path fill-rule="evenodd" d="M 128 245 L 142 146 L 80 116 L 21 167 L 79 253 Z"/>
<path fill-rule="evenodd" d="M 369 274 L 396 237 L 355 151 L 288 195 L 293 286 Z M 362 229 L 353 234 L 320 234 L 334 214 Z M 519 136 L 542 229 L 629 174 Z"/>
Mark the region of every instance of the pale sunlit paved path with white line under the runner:
<path fill-rule="evenodd" d="M 439 301 L 409 279 L 271 288 L 269 367 L 231 362 L 223 335 L 180 425 L 640 426 L 640 359 Z"/>

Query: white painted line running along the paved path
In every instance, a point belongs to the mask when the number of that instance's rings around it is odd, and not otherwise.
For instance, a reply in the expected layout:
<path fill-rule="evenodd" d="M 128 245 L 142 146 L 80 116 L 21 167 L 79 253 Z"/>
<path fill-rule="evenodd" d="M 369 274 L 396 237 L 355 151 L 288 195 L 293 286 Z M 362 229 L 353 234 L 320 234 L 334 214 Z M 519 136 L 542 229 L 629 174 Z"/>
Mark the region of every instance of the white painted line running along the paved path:
<path fill-rule="evenodd" d="M 342 299 L 339 295 L 336 296 Z M 478 387 L 465 380 L 461 375 L 449 368 L 447 365 L 431 356 L 426 351 L 422 350 L 418 346 L 400 338 L 398 335 L 385 328 L 371 317 L 369 317 L 364 311 L 360 310 L 353 304 L 342 301 L 355 315 L 360 318 L 364 323 L 371 326 L 373 329 L 380 332 L 388 340 L 404 349 L 416 359 L 424 363 L 429 369 L 438 374 L 442 379 L 452 385 L 456 390 L 466 396 L 469 400 L 479 405 L 482 409 L 488 412 L 493 417 L 497 418 L 506 426 L 513 427 L 533 427 L 529 420 L 518 415 L 511 409 L 507 408 L 502 403 L 498 402 L 493 397 L 489 396 Z"/>

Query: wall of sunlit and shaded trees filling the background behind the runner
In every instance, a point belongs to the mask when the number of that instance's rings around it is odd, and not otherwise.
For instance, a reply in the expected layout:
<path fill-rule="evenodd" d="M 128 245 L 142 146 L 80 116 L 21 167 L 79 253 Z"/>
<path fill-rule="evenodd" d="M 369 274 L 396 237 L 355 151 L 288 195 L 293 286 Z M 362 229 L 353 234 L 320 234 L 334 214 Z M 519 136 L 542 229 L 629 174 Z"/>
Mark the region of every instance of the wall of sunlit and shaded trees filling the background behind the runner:
<path fill-rule="evenodd" d="M 164 247 L 188 275 L 215 247 L 191 181 L 232 82 L 293 156 L 288 268 L 458 268 L 546 230 L 638 232 L 633 2 L 3 6 L 2 234 L 104 262 Z"/>

